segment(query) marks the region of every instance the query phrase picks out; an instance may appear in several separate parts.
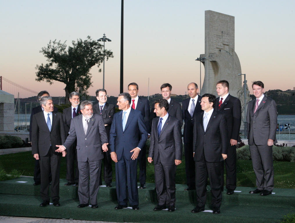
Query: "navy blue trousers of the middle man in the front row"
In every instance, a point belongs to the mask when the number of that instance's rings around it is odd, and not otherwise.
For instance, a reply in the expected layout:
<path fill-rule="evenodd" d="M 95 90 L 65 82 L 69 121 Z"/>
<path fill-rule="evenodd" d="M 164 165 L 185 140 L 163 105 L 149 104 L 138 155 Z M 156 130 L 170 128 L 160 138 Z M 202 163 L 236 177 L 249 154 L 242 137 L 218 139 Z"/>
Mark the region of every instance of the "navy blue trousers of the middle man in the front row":
<path fill-rule="evenodd" d="M 115 167 L 118 204 L 127 205 L 128 189 L 128 200 L 130 206 L 138 205 L 137 159 L 127 160 L 124 158 L 124 155 L 122 155 L 121 159 L 115 163 Z"/>

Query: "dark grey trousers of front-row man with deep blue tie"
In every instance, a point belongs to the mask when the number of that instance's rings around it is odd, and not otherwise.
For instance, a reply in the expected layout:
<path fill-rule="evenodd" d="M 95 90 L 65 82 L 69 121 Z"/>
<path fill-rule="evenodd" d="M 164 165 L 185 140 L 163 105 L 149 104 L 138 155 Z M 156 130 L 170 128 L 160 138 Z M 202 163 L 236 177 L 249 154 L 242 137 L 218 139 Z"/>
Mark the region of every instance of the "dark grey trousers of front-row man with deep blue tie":
<path fill-rule="evenodd" d="M 175 206 L 176 165 L 162 165 L 159 157 L 154 168 L 158 204 L 162 206 Z"/>

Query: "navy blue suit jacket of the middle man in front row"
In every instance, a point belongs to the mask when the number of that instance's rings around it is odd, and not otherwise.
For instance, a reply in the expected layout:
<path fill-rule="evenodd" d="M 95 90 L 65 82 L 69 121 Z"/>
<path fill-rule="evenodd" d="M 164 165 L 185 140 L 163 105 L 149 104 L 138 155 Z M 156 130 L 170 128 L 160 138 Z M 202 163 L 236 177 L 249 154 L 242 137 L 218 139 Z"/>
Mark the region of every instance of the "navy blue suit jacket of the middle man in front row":
<path fill-rule="evenodd" d="M 131 160 L 132 153 L 130 153 L 130 151 L 136 147 L 140 149 L 143 148 L 148 139 L 148 132 L 143 115 L 140 111 L 131 109 L 124 132 L 122 116 L 123 111 L 117 112 L 114 115 L 110 131 L 109 146 L 111 152 L 116 152 L 118 160 L 121 159 L 123 153 L 125 159 Z"/>

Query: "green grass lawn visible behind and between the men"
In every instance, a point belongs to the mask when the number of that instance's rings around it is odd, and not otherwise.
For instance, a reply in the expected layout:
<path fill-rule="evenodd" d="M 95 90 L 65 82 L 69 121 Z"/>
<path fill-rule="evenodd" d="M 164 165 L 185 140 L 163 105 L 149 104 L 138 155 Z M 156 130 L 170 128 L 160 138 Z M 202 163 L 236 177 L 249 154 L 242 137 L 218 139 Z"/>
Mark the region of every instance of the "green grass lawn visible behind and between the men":
<path fill-rule="evenodd" d="M 31 151 L 22 153 L 12 153 L 0 155 L 0 169 L 10 173 L 12 170 L 18 170 L 23 176 L 34 176 L 34 158 Z M 274 161 L 275 171 L 275 187 L 276 188 L 293 188 L 295 189 L 295 163 Z M 113 162 L 113 170 L 115 170 Z M 65 179 L 66 163 L 65 158 L 61 159 L 60 178 Z M 115 181 L 115 171 L 113 171 L 113 181 Z M 154 183 L 154 165 L 147 162 L 147 178 L 146 182 Z M 225 182 L 225 180 L 224 180 Z M 176 183 L 186 184 L 185 162 L 184 157 L 182 163 L 176 169 Z M 251 160 L 237 161 L 237 186 L 255 187 L 255 174 L 252 168 Z"/>

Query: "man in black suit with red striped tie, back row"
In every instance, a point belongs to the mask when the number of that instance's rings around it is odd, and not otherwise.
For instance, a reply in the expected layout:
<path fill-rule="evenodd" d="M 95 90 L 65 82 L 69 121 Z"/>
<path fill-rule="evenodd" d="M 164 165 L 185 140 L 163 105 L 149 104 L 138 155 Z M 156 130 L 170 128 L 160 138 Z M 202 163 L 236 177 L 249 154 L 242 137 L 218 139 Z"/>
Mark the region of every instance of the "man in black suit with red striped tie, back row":
<path fill-rule="evenodd" d="M 228 148 L 227 159 L 224 160 L 222 166 L 225 165 L 226 169 L 226 194 L 231 195 L 234 193 L 237 187 L 237 152 L 236 145 L 240 142 L 240 126 L 242 121 L 242 108 L 240 99 L 231 96 L 228 91 L 230 84 L 228 81 L 218 81 L 216 84 L 217 95 L 219 96 L 215 100 L 216 111 L 224 114 L 227 122 L 228 130 Z M 224 184 L 224 167 L 221 168 L 221 187 L 223 189 Z"/>

